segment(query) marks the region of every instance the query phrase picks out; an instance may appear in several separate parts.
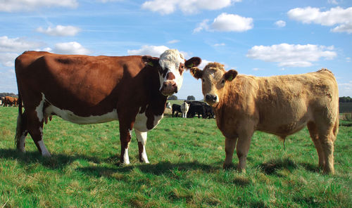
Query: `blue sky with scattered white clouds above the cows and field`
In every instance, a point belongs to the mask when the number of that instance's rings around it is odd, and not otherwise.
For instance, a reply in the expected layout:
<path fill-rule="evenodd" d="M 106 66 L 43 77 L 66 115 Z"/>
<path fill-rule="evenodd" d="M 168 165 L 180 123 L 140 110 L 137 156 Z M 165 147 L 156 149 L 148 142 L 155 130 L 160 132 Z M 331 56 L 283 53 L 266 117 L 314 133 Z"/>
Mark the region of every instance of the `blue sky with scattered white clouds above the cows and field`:
<path fill-rule="evenodd" d="M 14 59 L 40 50 L 219 62 L 241 74 L 301 74 L 326 67 L 352 96 L 352 1 L 0 0 L 0 92 L 17 93 Z M 203 98 L 187 72 L 178 98 Z"/>

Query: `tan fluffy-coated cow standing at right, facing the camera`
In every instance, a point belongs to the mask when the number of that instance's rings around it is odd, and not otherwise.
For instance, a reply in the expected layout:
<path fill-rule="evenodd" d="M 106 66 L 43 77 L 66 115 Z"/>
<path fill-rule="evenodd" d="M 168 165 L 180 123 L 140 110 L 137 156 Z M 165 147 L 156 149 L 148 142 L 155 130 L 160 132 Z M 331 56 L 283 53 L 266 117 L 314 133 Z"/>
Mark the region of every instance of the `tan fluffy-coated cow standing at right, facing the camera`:
<path fill-rule="evenodd" d="M 225 136 L 224 167 L 232 164 L 234 146 L 238 169 L 246 167 L 251 136 L 264 131 L 285 138 L 308 126 L 318 151 L 319 167 L 334 173 L 334 141 L 339 128 L 337 82 L 329 70 L 307 74 L 253 77 L 225 71 L 209 63 L 191 74 L 201 79 L 204 100 L 215 110 Z M 237 143 L 237 144 L 236 144 Z"/>

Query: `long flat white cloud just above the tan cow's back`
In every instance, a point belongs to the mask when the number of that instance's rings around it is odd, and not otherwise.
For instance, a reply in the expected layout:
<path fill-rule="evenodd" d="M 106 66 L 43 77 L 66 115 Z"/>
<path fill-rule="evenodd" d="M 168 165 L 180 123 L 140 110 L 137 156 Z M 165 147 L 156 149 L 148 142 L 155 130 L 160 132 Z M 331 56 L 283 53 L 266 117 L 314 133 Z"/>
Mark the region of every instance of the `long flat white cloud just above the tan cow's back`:
<path fill-rule="evenodd" d="M 320 58 L 330 60 L 337 56 L 334 46 L 279 44 L 272 46 L 253 46 L 248 58 L 277 62 L 279 67 L 309 67 Z"/>

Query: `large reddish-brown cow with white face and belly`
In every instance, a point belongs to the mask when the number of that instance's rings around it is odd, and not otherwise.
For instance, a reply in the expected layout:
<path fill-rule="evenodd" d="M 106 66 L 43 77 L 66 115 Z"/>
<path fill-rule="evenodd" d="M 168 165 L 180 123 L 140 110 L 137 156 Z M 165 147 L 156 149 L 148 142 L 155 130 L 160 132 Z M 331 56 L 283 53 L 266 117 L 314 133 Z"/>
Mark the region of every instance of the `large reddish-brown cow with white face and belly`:
<path fill-rule="evenodd" d="M 120 161 L 129 164 L 134 129 L 139 160 L 146 156 L 147 131 L 163 117 L 168 96 L 180 90 L 186 68 L 201 59 L 184 60 L 172 49 L 151 56 L 76 56 L 27 51 L 15 60 L 20 104 L 15 142 L 25 152 L 29 133 L 39 152 L 50 156 L 42 140 L 43 123 L 57 115 L 76 124 L 119 120 Z M 21 102 L 20 102 L 21 103 Z"/>

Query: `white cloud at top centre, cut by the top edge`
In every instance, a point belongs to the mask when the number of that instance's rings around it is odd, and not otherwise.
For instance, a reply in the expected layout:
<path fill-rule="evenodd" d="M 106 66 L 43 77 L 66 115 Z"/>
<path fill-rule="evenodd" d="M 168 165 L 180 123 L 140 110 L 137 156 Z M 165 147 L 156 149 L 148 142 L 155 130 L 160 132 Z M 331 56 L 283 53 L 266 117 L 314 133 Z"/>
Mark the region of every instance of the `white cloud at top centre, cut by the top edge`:
<path fill-rule="evenodd" d="M 183 13 L 197 13 L 200 10 L 218 10 L 241 0 L 152 0 L 145 1 L 142 8 L 167 15 L 181 10 Z"/>

